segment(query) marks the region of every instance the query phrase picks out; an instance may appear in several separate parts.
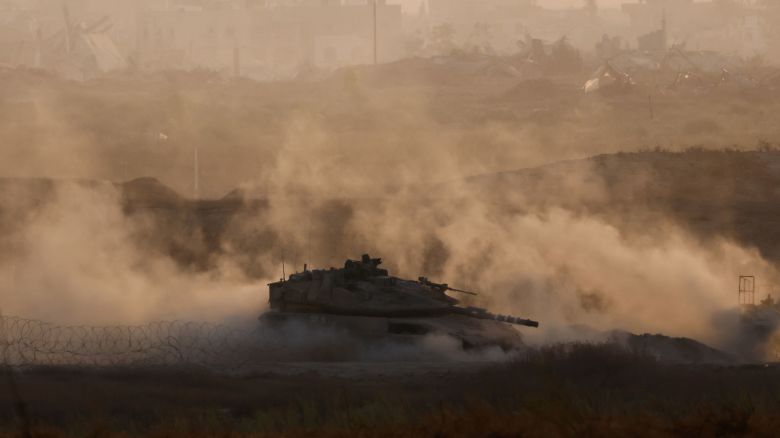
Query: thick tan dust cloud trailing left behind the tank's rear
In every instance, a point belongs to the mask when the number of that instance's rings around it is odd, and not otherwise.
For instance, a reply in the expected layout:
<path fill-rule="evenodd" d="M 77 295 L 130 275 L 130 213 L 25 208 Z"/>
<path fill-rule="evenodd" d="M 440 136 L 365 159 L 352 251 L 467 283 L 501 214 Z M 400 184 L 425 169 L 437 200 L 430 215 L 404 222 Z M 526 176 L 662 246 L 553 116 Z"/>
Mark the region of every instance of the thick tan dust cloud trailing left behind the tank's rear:
<path fill-rule="evenodd" d="M 5 201 L 4 208 L 14 208 Z M 47 202 L 25 211 L 24 225 L 0 240 L 5 315 L 133 325 L 228 320 L 262 308 L 260 284 L 243 282 L 229 263 L 214 272 L 185 273 L 144 251 L 134 233 L 147 224 L 124 215 L 110 183 L 63 182 Z"/>

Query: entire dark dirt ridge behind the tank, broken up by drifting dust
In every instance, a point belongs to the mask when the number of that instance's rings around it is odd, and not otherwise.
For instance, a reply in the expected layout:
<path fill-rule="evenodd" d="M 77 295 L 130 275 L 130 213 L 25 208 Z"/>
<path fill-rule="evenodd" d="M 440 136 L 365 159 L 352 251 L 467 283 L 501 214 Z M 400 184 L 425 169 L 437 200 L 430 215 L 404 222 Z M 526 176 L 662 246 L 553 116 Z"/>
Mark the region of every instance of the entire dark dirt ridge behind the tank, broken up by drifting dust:
<path fill-rule="evenodd" d="M 453 208 L 459 205 L 459 195 L 453 193 L 479 196 L 501 215 L 560 208 L 601 217 L 629 237 L 674 222 L 703 241 L 732 239 L 758 248 L 769 260 L 780 260 L 780 227 L 776 226 L 780 192 L 773 189 L 780 184 L 780 152 L 621 153 L 481 175 L 456 184 L 461 185 L 456 190 L 447 184 L 446 189 L 426 187 L 404 196 L 427 202 L 441 193 L 453 196 Z M 19 229 L 25 212 L 50 202 L 56 186 L 56 181 L 43 179 L 2 181 L 4 229 Z M 113 187 L 120 193 L 125 214 L 143 223 L 134 230 L 139 244 L 197 271 L 215 268 L 229 252 L 252 277 L 270 274 L 259 260 L 278 258 L 276 252 L 285 239 L 271 223 L 271 204 L 295 203 L 246 198 L 240 191 L 219 200 L 194 201 L 153 179 Z M 337 236 L 348 234 L 352 218 L 379 208 L 389 196 L 397 195 L 319 200 L 307 212 L 310 223 L 301 225 L 302 233 L 316 233 L 308 237 L 308 250 L 327 252 L 333 259 L 365 251 L 360 242 Z"/>

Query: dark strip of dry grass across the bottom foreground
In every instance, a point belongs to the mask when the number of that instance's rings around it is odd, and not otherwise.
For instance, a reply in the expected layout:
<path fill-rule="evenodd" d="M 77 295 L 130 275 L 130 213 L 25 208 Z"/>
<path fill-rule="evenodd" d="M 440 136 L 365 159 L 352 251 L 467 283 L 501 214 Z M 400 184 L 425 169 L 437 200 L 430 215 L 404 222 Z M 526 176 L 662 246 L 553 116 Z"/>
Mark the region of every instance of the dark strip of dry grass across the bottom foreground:
<path fill-rule="evenodd" d="M 408 380 L 39 370 L 20 382 L 36 437 L 772 436 L 779 373 L 568 345 Z"/>

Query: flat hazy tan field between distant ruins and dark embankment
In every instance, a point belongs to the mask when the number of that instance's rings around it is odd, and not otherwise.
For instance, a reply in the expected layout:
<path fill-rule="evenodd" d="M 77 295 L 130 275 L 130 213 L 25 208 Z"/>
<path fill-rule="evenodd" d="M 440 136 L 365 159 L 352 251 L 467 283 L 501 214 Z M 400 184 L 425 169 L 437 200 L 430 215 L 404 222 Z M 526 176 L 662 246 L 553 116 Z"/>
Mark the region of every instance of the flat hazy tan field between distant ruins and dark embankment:
<path fill-rule="evenodd" d="M 215 198 L 273 179 L 285 160 L 335 161 L 382 187 L 398 183 L 388 168 L 430 182 L 656 146 L 780 142 L 776 91 L 607 97 L 583 93 L 587 75 L 529 79 L 507 74 L 507 60 L 445 61 L 275 83 L 206 72 L 72 83 L 13 72 L 0 81 L 0 174 L 154 177 L 189 196 L 197 154 L 198 192 Z"/>

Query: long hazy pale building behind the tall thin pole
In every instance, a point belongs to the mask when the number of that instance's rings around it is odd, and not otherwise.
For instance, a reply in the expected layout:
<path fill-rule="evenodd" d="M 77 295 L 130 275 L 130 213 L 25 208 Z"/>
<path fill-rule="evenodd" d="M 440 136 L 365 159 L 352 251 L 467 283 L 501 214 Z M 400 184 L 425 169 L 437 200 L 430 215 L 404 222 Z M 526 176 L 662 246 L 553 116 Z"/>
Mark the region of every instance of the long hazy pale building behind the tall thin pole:
<path fill-rule="evenodd" d="M 179 4 L 139 18 L 137 52 L 152 68 L 234 69 L 280 77 L 302 68 L 366 64 L 374 59 L 374 7 L 369 1 L 228 2 L 230 7 Z M 242 6 L 243 5 L 243 6 Z M 247 6 L 248 5 L 248 6 Z M 379 0 L 377 58 L 403 55 L 400 5 Z"/>

